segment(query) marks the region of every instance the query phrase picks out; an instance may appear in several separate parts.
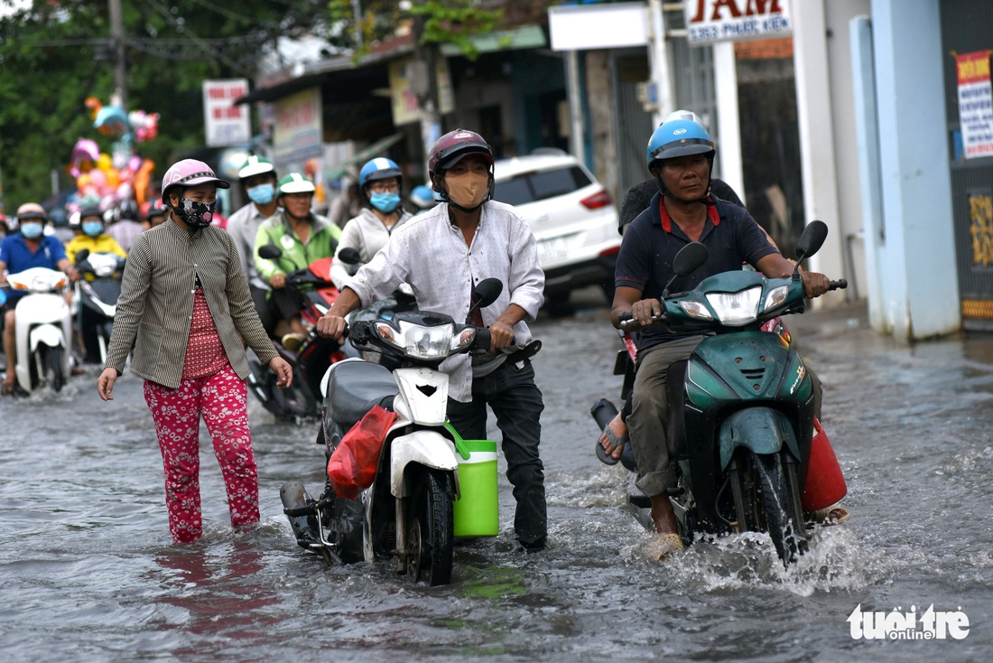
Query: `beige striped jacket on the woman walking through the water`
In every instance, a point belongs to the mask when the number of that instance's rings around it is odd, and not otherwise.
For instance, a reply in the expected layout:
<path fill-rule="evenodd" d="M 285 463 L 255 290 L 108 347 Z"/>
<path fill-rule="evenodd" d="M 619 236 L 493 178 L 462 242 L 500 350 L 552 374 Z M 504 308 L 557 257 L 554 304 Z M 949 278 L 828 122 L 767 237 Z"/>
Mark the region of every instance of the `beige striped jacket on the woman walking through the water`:
<path fill-rule="evenodd" d="M 134 343 L 135 375 L 171 389 L 179 387 L 198 274 L 217 335 L 238 377 L 244 380 L 249 374 L 242 338 L 263 364 L 276 356 L 252 305 L 231 237 L 213 227 L 191 237 L 167 220 L 139 235 L 128 252 L 107 349 L 108 367 L 123 373 Z"/>

